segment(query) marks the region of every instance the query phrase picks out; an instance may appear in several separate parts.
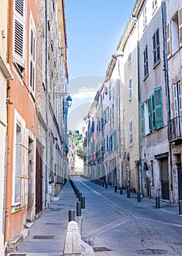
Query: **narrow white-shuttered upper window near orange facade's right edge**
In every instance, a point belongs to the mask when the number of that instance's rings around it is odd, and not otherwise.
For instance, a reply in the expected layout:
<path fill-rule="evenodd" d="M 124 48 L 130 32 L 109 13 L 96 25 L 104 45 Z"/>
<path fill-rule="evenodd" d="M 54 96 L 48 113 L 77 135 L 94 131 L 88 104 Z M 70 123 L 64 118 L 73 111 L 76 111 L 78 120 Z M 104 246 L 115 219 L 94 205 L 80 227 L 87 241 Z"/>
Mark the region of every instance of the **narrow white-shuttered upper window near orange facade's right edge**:
<path fill-rule="evenodd" d="M 29 44 L 29 85 L 31 92 L 35 92 L 35 63 L 36 63 L 36 30 L 34 20 L 30 19 L 30 44 Z"/>

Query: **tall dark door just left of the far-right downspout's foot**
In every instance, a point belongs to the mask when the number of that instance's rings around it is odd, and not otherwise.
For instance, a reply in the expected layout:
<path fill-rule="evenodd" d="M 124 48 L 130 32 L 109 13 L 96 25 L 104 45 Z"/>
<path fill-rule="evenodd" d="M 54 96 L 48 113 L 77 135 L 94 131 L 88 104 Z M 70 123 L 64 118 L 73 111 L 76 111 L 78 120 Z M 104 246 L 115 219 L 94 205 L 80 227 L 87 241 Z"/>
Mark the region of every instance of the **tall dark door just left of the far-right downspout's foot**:
<path fill-rule="evenodd" d="M 168 158 L 160 160 L 160 181 L 162 188 L 162 199 L 170 199 Z"/>

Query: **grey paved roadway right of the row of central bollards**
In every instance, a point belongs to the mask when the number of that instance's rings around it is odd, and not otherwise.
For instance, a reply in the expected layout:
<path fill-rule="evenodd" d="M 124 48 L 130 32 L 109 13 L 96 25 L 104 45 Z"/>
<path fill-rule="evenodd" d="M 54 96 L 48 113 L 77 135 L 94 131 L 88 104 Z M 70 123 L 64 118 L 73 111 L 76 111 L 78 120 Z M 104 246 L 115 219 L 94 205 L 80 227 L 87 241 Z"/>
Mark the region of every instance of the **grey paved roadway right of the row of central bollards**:
<path fill-rule="evenodd" d="M 96 255 L 182 255 L 182 219 L 178 207 L 137 195 L 115 193 L 113 187 L 75 181 L 86 196 L 82 239 L 111 251 Z"/>

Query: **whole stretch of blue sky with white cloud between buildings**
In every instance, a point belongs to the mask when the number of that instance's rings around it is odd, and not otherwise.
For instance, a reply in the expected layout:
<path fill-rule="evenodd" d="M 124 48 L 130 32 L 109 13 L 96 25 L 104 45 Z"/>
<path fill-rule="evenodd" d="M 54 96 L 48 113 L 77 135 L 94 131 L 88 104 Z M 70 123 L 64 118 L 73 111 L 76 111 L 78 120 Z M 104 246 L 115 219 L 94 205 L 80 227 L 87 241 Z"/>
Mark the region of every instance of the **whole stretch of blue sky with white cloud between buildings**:
<path fill-rule="evenodd" d="M 83 127 L 96 91 L 105 80 L 136 0 L 64 0 L 67 26 L 69 129 Z"/>

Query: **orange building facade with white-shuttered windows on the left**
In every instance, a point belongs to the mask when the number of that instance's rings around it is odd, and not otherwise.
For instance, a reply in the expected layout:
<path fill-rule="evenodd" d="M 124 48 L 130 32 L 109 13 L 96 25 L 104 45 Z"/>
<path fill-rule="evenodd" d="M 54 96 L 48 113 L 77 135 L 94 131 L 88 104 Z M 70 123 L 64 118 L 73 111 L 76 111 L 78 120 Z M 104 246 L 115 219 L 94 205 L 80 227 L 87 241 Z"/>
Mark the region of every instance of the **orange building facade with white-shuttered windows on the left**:
<path fill-rule="evenodd" d="M 29 172 L 35 162 L 37 1 L 9 1 L 5 244 L 26 224 Z"/>

